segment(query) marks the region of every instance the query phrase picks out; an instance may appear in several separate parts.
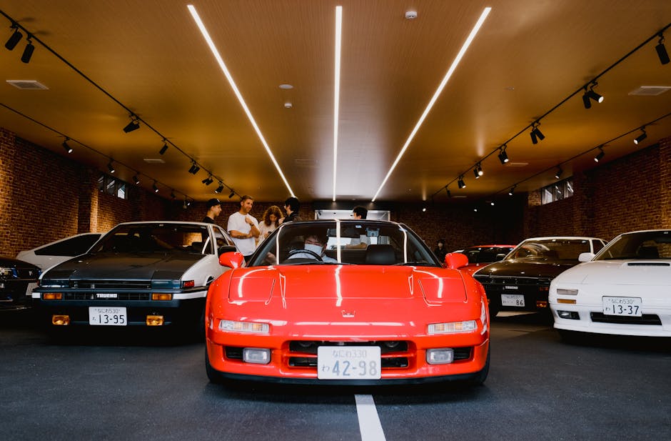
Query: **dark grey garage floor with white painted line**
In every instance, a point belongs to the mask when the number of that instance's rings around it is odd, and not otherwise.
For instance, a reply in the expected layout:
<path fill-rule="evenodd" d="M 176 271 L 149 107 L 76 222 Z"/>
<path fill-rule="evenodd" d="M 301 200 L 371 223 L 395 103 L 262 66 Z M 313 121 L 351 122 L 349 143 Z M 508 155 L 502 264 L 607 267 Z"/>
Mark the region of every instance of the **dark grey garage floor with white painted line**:
<path fill-rule="evenodd" d="M 54 343 L 29 321 L 0 312 L 0 440 L 671 437 L 669 339 L 567 345 L 538 314 L 496 317 L 483 387 L 231 389 L 208 383 L 201 342 L 123 332 Z M 359 420 L 360 397 L 379 423 Z"/>

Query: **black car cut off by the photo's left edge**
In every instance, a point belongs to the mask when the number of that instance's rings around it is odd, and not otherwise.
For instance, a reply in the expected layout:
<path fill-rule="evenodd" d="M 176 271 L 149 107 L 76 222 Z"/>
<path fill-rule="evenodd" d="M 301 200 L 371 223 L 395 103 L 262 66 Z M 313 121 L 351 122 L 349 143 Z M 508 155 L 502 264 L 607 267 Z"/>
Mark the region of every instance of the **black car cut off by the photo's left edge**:
<path fill-rule="evenodd" d="M 40 269 L 22 260 L 0 257 L 0 309 L 26 309 Z"/>

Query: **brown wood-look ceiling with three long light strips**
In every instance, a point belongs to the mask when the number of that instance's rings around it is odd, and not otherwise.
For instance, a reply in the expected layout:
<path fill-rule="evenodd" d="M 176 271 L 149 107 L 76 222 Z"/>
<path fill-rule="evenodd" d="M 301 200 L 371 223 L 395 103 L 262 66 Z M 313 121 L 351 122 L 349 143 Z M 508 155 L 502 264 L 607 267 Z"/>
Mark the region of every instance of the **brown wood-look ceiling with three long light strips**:
<path fill-rule="evenodd" d="M 671 86 L 671 64 L 655 51 L 655 34 L 671 24 L 668 0 L 11 1 L 1 6 L 1 38 L 12 34 L 10 18 L 24 38 L 13 51 L 0 47 L 0 77 L 48 89 L 3 81 L 0 126 L 63 155 L 69 137 L 72 159 L 104 172 L 113 159 L 115 176 L 132 182 L 138 174 L 146 188 L 156 181 L 166 198 L 206 200 L 221 180 L 224 198 L 233 189 L 283 201 L 290 189 L 190 3 L 301 200 L 333 198 L 336 6 L 337 201 L 370 202 L 379 189 L 380 202 L 446 202 L 446 186 L 453 201 L 493 199 L 513 185 L 555 182 L 558 165 L 562 178 L 595 167 L 601 144 L 607 162 L 671 136 L 671 92 L 632 94 Z M 382 186 L 485 6 L 492 9 L 473 44 Z M 26 31 L 35 46 L 28 64 Z M 665 34 L 671 52 L 671 28 Z M 605 100 L 585 109 L 580 89 L 594 78 Z M 131 113 L 141 128 L 124 133 Z M 530 124 L 539 118 L 545 139 L 534 145 Z M 643 125 L 648 137 L 637 146 Z M 497 158 L 504 143 L 505 166 Z M 478 162 L 484 175 L 476 180 Z M 208 172 L 210 186 L 201 182 Z"/>

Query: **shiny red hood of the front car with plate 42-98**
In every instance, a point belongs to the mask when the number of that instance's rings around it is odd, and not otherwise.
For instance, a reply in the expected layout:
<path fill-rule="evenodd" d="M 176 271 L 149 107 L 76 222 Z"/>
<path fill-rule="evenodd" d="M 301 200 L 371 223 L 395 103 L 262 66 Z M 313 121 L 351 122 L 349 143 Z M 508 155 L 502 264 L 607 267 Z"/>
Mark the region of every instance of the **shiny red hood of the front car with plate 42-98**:
<path fill-rule="evenodd" d="M 412 299 L 465 302 L 457 270 L 426 267 L 348 265 L 236 269 L 228 290 L 230 302 L 283 299 Z"/>

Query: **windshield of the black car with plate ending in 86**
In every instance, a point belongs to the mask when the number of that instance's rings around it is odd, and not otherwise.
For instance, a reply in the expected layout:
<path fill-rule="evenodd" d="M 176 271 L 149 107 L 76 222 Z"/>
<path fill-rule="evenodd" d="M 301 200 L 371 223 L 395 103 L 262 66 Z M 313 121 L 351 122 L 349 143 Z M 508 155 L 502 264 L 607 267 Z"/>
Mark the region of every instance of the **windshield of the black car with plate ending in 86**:
<path fill-rule="evenodd" d="M 513 249 L 507 259 L 575 260 L 583 252 L 591 252 L 587 239 L 530 239 Z"/>

